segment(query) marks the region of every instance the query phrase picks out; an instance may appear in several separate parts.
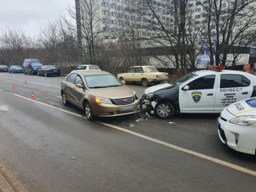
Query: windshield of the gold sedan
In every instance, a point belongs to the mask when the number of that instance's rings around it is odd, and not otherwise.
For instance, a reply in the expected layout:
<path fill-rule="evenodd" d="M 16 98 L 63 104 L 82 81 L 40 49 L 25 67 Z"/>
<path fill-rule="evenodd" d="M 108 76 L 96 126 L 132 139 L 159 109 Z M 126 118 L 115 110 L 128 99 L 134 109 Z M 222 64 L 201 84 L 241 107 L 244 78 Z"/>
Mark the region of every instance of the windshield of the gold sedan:
<path fill-rule="evenodd" d="M 123 86 L 115 76 L 111 74 L 98 74 L 84 76 L 88 88 L 104 88 L 110 86 Z"/>

